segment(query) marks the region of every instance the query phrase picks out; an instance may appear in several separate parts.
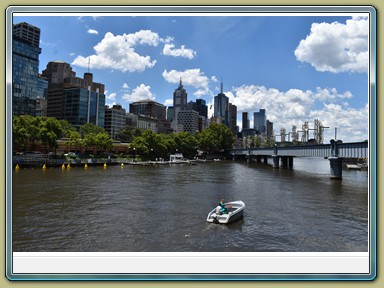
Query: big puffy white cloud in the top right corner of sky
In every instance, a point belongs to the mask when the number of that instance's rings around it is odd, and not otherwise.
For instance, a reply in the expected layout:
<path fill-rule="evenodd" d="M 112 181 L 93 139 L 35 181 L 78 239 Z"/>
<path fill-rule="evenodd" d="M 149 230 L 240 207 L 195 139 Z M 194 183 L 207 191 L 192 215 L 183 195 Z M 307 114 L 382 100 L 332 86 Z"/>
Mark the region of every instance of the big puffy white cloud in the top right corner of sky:
<path fill-rule="evenodd" d="M 345 24 L 313 23 L 295 50 L 297 60 L 325 72 L 368 72 L 368 19 L 353 17 Z"/>

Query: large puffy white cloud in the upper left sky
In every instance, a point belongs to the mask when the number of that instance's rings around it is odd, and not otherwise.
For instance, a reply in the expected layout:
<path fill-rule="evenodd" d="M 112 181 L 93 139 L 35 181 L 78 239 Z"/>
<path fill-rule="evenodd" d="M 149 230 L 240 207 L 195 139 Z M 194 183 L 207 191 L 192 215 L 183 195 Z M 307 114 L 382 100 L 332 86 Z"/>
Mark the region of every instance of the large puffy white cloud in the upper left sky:
<path fill-rule="evenodd" d="M 116 36 L 108 32 L 101 42 L 93 47 L 96 54 L 88 57 L 78 56 L 72 65 L 88 67 L 90 58 L 92 68 L 95 69 L 142 72 L 147 68 L 152 68 L 156 64 L 156 60 L 152 61 L 150 56 L 139 55 L 134 47 L 144 44 L 157 46 L 159 41 L 159 35 L 150 30 Z"/>

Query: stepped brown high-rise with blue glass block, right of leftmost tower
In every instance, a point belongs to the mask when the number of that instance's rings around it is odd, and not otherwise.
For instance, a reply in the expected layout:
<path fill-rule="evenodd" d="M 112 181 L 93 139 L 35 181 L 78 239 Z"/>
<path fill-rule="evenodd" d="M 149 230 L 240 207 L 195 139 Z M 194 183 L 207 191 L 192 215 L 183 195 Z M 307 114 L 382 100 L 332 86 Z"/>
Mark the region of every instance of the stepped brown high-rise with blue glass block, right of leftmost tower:
<path fill-rule="evenodd" d="M 104 84 L 93 82 L 92 73 L 79 78 L 68 63 L 52 61 L 42 75 L 48 81 L 48 117 L 67 120 L 75 127 L 86 123 L 104 127 Z"/>

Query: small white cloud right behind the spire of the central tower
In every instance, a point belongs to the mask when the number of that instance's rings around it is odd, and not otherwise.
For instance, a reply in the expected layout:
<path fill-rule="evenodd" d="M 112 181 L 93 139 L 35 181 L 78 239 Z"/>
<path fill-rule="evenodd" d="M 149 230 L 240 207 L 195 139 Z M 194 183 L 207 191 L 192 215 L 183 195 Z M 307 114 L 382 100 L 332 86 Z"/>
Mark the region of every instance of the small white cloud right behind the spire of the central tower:
<path fill-rule="evenodd" d="M 191 85 L 197 89 L 208 89 L 209 78 L 198 68 L 184 71 L 171 70 L 169 72 L 164 70 L 163 77 L 169 83 L 179 83 L 181 78 L 184 85 Z"/>

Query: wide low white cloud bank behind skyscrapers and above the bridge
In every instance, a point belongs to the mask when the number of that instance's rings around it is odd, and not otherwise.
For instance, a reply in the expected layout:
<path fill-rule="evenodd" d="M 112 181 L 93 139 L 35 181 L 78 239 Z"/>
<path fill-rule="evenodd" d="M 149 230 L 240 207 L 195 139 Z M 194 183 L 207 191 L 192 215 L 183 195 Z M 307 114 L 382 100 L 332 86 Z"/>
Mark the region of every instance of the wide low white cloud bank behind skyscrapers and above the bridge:
<path fill-rule="evenodd" d="M 301 130 L 306 121 L 310 128 L 314 128 L 314 120 L 319 119 L 324 126 L 330 127 L 324 130 L 325 142 L 334 137 L 334 127 L 338 127 L 338 139 L 347 142 L 367 139 L 368 106 L 362 109 L 349 107 L 349 103 L 345 102 L 352 97 L 349 91 L 339 93 L 334 88 L 320 87 L 316 91 L 279 91 L 264 86 L 243 85 L 224 91 L 224 94 L 229 97 L 229 102 L 237 106 L 240 117 L 242 112 L 248 112 L 252 119 L 254 112 L 266 109 L 267 119 L 273 122 L 275 135 L 279 134 L 280 128 L 291 131 L 293 125 Z M 313 138 L 313 131 L 309 137 Z M 277 140 L 280 140 L 279 137 Z"/>

